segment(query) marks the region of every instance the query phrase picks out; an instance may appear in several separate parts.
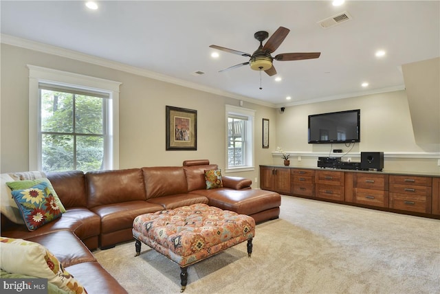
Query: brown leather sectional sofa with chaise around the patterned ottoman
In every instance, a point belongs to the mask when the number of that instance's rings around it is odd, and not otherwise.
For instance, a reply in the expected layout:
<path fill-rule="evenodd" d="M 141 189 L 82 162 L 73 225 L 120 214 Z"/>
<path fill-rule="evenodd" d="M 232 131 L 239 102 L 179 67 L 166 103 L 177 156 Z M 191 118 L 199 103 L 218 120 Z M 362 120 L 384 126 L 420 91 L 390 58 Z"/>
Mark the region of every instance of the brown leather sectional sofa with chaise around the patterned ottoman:
<path fill-rule="evenodd" d="M 49 173 L 47 178 L 66 208 L 63 216 L 28 231 L 2 214 L 1 236 L 44 245 L 89 294 L 126 293 L 90 250 L 133 240 L 135 216 L 206 203 L 248 214 L 256 223 L 278 218 L 281 196 L 252 189 L 250 179 L 223 176 L 223 188 L 206 190 L 204 171 L 217 168 L 208 160 L 192 160 L 178 167 Z"/>

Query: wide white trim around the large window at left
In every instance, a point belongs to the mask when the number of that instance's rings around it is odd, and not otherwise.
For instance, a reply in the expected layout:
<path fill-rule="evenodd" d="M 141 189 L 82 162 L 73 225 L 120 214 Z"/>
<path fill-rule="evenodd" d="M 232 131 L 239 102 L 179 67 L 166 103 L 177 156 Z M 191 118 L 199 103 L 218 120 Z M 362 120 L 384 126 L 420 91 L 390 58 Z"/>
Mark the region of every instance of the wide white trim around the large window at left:
<path fill-rule="evenodd" d="M 41 170 L 41 150 L 39 150 L 38 127 L 40 114 L 39 111 L 39 83 L 58 84 L 66 87 L 89 89 L 109 93 L 111 100 L 111 123 L 108 124 L 109 138 L 111 146 L 106 146 L 106 150 L 112 155 L 108 156 L 105 163 L 106 169 L 119 168 L 119 87 L 121 82 L 104 80 L 92 76 L 73 74 L 57 69 L 48 69 L 27 65 L 29 69 L 29 170 Z M 110 113 L 109 113 L 110 114 Z"/>

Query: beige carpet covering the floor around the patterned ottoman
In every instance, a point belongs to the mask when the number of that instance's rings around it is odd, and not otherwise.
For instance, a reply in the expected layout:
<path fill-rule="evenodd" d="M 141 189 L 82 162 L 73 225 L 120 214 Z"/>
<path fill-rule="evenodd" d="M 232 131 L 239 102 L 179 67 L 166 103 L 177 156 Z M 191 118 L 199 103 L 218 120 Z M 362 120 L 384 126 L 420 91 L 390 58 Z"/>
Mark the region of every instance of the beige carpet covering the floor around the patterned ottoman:
<path fill-rule="evenodd" d="M 281 216 L 188 268 L 184 293 L 440 293 L 440 221 L 283 196 Z M 179 293 L 180 268 L 134 242 L 95 251 L 129 293 Z"/>

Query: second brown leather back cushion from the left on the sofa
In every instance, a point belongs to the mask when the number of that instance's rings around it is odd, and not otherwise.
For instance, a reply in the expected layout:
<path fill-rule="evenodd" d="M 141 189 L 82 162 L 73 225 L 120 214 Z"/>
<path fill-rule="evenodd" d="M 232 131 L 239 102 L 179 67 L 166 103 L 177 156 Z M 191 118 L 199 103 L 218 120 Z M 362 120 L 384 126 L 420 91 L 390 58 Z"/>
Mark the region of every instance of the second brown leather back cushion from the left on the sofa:
<path fill-rule="evenodd" d="M 146 200 L 144 176 L 140 168 L 87 172 L 85 178 L 89 208 Z"/>

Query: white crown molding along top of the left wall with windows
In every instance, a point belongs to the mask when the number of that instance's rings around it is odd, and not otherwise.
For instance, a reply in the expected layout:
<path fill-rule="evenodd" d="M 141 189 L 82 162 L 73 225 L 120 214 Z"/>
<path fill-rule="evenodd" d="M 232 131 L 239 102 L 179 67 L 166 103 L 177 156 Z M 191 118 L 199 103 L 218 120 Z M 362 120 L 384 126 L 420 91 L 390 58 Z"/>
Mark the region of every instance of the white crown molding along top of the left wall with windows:
<path fill-rule="evenodd" d="M 186 88 L 195 89 L 195 90 L 199 90 L 199 91 L 203 91 L 203 92 L 207 92 L 207 93 L 212 93 L 215 95 L 233 98 L 236 100 L 243 100 L 246 102 L 259 104 L 262 106 L 267 106 L 267 107 L 272 107 L 272 108 L 276 107 L 276 105 L 273 103 L 264 102 L 264 101 L 250 98 L 247 96 L 237 95 L 234 93 L 230 93 L 228 91 L 221 91 L 219 89 L 214 89 L 212 87 L 202 86 L 201 84 L 197 84 L 195 82 L 188 82 L 186 80 L 181 80 L 179 78 L 173 78 L 170 76 L 166 76 L 164 74 L 159 74 L 155 71 L 149 71 L 147 69 L 142 69 L 140 67 L 133 67 L 131 65 L 125 65 L 123 63 L 118 63 L 118 62 L 107 60 L 107 59 L 100 58 L 97 56 L 91 56 L 88 54 L 76 52 L 74 50 L 64 49 L 64 48 L 56 47 L 53 45 L 47 45 L 47 44 L 39 43 L 36 41 L 30 41 L 28 39 L 19 38 L 19 37 L 11 36 L 8 34 L 1 34 L 0 35 L 0 43 L 12 45 L 12 46 L 16 46 L 16 47 L 21 47 L 21 48 L 25 48 L 25 49 L 30 49 L 30 50 L 34 50 L 34 51 L 38 51 L 38 52 L 43 52 L 46 54 L 61 56 L 64 58 L 70 58 L 70 59 L 74 59 L 74 60 L 78 60 L 78 61 L 83 61 L 85 63 L 91 63 L 93 65 L 99 65 L 102 67 L 108 67 L 110 69 L 124 71 L 129 74 L 135 74 L 137 76 L 144 76 L 146 78 L 152 78 L 154 80 L 160 80 L 162 82 L 169 82 L 170 84 L 177 84 L 181 87 L 186 87 Z"/>

